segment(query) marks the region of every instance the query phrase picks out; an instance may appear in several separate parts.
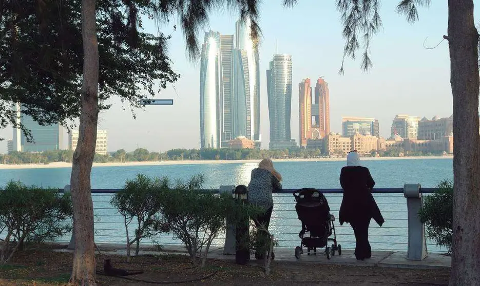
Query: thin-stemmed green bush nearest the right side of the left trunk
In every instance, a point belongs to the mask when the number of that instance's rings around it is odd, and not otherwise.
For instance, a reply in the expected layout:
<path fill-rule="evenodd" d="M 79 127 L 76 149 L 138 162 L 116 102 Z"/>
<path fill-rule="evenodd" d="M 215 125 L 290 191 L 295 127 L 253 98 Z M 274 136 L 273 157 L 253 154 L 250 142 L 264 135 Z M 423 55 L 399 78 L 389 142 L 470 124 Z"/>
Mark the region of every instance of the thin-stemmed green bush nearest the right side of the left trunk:
<path fill-rule="evenodd" d="M 113 195 L 110 204 L 124 217 L 127 236 L 127 260 L 130 259 L 130 246 L 136 243 L 135 255 L 140 250 L 144 238 L 152 238 L 162 232 L 159 226 L 160 191 L 168 188 L 166 179 L 152 179 L 138 174 L 135 180 L 127 180 L 122 191 Z M 128 234 L 128 226 L 136 223 L 135 237 Z"/>

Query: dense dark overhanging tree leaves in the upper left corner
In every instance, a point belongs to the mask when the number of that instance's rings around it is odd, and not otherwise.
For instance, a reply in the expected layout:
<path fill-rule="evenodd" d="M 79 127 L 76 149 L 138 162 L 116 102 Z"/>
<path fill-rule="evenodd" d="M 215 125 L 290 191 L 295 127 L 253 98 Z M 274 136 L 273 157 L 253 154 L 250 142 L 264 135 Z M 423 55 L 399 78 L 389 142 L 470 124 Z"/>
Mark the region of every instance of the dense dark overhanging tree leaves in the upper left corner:
<path fill-rule="evenodd" d="M 128 2 L 136 13 L 148 14 L 151 9 L 145 1 Z M 0 128 L 17 126 L 12 102 L 21 103 L 22 114 L 41 125 L 67 125 L 68 119 L 80 115 L 81 1 L 1 3 Z M 110 107 L 105 100 L 113 95 L 140 107 L 141 99 L 179 77 L 166 56 L 169 36 L 143 32 L 140 17 L 129 18 L 125 8 L 123 1 L 97 1 L 100 109 Z M 19 127 L 29 140 L 34 139 L 24 126 Z"/>

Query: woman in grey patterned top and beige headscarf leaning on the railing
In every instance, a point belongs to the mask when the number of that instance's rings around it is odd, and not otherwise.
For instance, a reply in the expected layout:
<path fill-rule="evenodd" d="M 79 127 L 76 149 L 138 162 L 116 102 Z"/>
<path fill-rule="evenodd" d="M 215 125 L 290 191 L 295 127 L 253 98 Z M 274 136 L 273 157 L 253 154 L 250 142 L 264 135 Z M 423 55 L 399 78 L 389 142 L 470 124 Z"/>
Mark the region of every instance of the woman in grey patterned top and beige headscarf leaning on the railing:
<path fill-rule="evenodd" d="M 273 210 L 272 191 L 282 188 L 280 183 L 281 180 L 282 176 L 273 167 L 273 162 L 271 159 L 261 160 L 260 164 L 258 164 L 258 168 L 252 170 L 252 177 L 250 179 L 250 183 L 248 184 L 248 201 L 265 210 L 262 215 L 254 218 L 257 228 L 263 226 L 268 230 L 268 224 L 270 223 Z M 259 235 L 266 238 L 262 239 L 261 241 L 267 242 L 270 240 L 268 235 L 261 230 L 259 230 Z M 274 254 L 272 254 L 272 257 L 274 257 Z M 263 251 L 256 249 L 255 258 L 263 259 Z"/>

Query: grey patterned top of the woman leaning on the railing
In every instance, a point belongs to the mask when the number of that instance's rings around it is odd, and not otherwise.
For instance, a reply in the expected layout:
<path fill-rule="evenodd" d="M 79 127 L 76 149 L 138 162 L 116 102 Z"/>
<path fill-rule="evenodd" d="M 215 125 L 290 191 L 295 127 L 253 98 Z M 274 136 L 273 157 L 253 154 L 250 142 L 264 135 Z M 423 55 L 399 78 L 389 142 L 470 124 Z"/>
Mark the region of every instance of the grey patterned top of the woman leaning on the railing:
<path fill-rule="evenodd" d="M 248 184 L 248 201 L 266 209 L 273 206 L 272 191 L 282 189 L 278 179 L 264 169 L 253 169 Z"/>

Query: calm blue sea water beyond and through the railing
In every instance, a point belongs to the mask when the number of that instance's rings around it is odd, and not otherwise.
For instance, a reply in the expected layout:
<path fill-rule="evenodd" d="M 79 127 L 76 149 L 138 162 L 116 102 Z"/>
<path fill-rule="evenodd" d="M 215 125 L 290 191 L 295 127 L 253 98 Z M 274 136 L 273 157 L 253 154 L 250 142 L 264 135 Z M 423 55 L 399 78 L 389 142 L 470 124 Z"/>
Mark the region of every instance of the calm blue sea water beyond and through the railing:
<path fill-rule="evenodd" d="M 282 174 L 283 187 L 286 189 L 340 188 L 340 169 L 343 161 L 299 161 L 275 162 L 276 169 Z M 421 183 L 422 187 L 436 187 L 443 179 L 453 179 L 452 159 L 401 159 L 401 160 L 364 160 L 362 165 L 368 167 L 376 181 L 377 188 L 402 188 L 404 183 Z M 218 189 L 220 185 L 247 185 L 251 171 L 256 163 L 198 164 L 198 165 L 164 165 L 164 166 L 130 166 L 130 167 L 94 167 L 92 170 L 92 188 L 120 189 L 126 179 L 133 179 L 138 173 L 149 176 L 169 176 L 175 179 L 188 179 L 196 174 L 204 174 L 205 188 Z M 27 185 L 63 188 L 69 183 L 71 168 L 51 169 L 17 169 L 0 170 L 0 187 L 10 180 L 20 180 Z M 95 241 L 124 243 L 125 228 L 122 217 L 111 209 L 108 194 L 94 194 Z M 338 217 L 341 195 L 327 195 L 332 213 Z M 386 222 L 379 228 L 372 221 L 370 242 L 376 250 L 407 249 L 407 206 L 401 194 L 375 195 L 378 206 Z M 299 245 L 298 232 L 301 223 L 298 220 L 292 195 L 279 194 L 274 197 L 275 206 L 271 227 L 281 247 Z M 354 248 L 355 237 L 348 224 L 339 226 L 335 222 L 337 239 L 345 249 Z M 133 234 L 133 228 L 131 235 Z M 216 240 L 222 245 L 223 236 Z M 68 240 L 64 237 L 61 240 Z M 161 244 L 179 243 L 171 235 L 159 238 Z M 145 240 L 144 243 L 151 243 Z M 444 251 L 429 241 L 429 251 Z"/>

